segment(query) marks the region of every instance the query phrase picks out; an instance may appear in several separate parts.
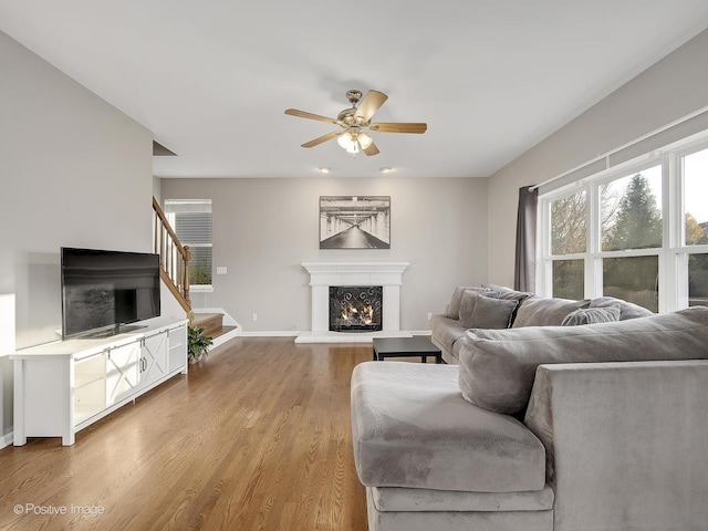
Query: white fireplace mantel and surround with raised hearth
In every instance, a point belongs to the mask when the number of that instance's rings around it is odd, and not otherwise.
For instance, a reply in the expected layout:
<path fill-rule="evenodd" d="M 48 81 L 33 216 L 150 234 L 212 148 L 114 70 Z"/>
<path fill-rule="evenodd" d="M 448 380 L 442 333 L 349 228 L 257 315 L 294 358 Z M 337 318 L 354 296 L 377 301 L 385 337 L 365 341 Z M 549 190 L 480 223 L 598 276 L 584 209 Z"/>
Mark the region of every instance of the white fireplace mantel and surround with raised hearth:
<path fill-rule="evenodd" d="M 296 342 L 371 341 L 372 337 L 399 335 L 400 285 L 409 262 L 304 262 L 312 287 L 312 332 Z M 382 332 L 330 332 L 330 287 L 381 285 L 383 288 Z M 317 340 L 315 340 L 317 339 Z"/>

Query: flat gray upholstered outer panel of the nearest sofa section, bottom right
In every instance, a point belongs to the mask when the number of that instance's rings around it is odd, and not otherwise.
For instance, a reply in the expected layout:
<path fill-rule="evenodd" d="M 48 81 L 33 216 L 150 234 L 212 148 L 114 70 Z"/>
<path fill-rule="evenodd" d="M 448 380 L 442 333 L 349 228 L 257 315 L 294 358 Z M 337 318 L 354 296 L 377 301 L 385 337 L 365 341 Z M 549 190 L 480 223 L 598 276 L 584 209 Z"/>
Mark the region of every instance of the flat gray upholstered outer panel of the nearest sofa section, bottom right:
<path fill-rule="evenodd" d="M 524 424 L 546 448 L 555 531 L 708 522 L 708 361 L 538 368 Z"/>

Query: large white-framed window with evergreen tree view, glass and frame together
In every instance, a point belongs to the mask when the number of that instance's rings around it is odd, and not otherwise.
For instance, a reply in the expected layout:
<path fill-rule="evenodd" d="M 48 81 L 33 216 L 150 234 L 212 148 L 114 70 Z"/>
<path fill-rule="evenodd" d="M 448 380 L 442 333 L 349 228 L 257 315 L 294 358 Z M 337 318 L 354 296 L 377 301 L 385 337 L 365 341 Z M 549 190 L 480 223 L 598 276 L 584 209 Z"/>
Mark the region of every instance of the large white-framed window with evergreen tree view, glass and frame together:
<path fill-rule="evenodd" d="M 701 142 L 542 196 L 539 293 L 611 295 L 653 312 L 708 305 L 708 142 Z"/>

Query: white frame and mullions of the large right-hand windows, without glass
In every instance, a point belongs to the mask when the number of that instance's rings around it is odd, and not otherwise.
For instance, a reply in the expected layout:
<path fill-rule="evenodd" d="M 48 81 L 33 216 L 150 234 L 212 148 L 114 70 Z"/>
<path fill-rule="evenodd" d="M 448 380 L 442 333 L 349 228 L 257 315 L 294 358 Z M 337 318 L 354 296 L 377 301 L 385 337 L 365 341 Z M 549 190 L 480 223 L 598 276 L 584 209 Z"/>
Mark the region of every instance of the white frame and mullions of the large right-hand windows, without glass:
<path fill-rule="evenodd" d="M 659 270 L 658 312 L 666 313 L 688 308 L 688 257 L 708 253 L 708 246 L 685 244 L 681 158 L 704 149 L 708 149 L 708 131 L 540 196 L 537 218 L 539 235 L 537 238 L 537 292 L 542 296 L 552 296 L 553 262 L 556 260 L 585 260 L 584 296 L 593 299 L 603 294 L 603 259 L 656 256 Z M 662 247 L 602 251 L 600 187 L 605 183 L 657 165 L 662 166 Z M 585 190 L 587 200 L 587 248 L 582 253 L 553 256 L 551 254 L 551 204 L 581 190 Z"/>

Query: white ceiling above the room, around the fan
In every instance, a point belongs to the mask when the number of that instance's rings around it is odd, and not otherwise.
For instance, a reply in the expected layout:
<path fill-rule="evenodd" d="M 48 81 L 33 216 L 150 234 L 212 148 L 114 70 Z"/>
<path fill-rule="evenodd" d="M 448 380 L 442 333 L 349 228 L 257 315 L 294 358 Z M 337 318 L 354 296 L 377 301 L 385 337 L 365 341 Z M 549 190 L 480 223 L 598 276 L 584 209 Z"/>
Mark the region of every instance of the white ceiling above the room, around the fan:
<path fill-rule="evenodd" d="M 706 0 L 0 0 L 0 30 L 150 129 L 158 177 L 486 177 L 708 28 Z M 3 73 L 2 75 L 6 75 Z M 389 100 L 352 158 L 348 88 Z"/>

